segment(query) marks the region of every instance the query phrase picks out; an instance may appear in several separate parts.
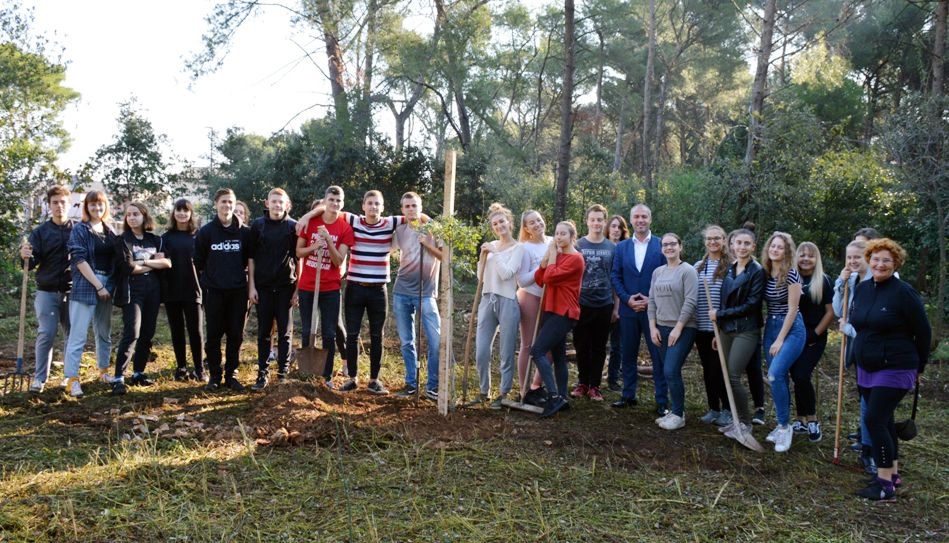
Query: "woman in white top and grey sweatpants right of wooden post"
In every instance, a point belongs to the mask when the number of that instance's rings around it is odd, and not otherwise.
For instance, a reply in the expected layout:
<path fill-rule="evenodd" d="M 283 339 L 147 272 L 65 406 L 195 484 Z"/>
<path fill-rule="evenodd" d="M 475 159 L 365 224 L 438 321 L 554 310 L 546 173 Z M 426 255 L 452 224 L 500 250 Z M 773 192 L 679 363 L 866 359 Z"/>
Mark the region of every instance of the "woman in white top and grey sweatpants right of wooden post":
<path fill-rule="evenodd" d="M 521 267 L 523 246 L 514 239 L 514 217 L 501 204 L 491 204 L 488 224 L 498 237 L 481 246 L 484 265 L 478 274 L 484 285 L 478 308 L 478 335 L 475 365 L 478 369 L 480 394 L 472 402 L 488 400 L 491 390 L 491 351 L 494 337 L 500 335 L 498 346 L 501 359 L 500 394 L 491 402 L 492 409 L 501 409 L 501 400 L 514 386 L 514 349 L 517 346 L 517 328 L 521 310 L 517 304 L 517 272 Z M 500 334 L 498 330 L 500 329 Z"/>

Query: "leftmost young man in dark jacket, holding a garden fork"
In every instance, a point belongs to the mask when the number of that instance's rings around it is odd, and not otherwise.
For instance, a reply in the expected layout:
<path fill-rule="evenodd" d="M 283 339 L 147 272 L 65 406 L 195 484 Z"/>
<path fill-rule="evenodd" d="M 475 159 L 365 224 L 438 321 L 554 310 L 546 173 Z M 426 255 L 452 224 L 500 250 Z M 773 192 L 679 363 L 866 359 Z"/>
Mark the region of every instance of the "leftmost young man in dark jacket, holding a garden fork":
<path fill-rule="evenodd" d="M 30 392 L 40 393 L 49 378 L 53 360 L 53 341 L 56 329 L 63 326 L 69 335 L 69 289 L 72 274 L 69 271 L 69 251 L 66 242 L 72 233 L 69 212 L 69 189 L 60 185 L 46 191 L 49 220 L 30 233 L 28 243 L 20 247 L 20 257 L 29 259 L 30 269 L 36 270 L 36 368 Z"/>

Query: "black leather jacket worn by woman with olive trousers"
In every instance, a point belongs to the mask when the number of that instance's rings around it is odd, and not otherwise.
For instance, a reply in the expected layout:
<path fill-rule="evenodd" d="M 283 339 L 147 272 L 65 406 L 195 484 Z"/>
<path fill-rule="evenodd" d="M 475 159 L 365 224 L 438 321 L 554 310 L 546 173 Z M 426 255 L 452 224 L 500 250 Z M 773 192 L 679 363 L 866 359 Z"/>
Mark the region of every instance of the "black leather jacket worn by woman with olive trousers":
<path fill-rule="evenodd" d="M 738 264 L 732 264 L 722 281 L 722 296 L 716 312 L 723 332 L 738 334 L 757 331 L 764 326 L 761 302 L 764 300 L 765 273 L 757 261 L 751 260 L 737 277 Z"/>

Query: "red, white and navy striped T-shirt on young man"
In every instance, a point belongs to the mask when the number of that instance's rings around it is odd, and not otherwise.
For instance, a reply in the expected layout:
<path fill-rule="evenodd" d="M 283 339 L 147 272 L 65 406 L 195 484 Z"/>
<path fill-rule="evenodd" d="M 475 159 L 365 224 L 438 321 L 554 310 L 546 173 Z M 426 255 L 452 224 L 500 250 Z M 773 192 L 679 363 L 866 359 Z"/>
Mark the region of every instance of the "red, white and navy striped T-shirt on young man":
<path fill-rule="evenodd" d="M 382 217 L 376 224 L 369 224 L 365 217 L 347 213 L 346 220 L 353 227 L 355 238 L 349 253 L 347 277 L 359 283 L 388 283 L 392 237 L 396 227 L 403 224 L 405 218 L 393 215 Z"/>

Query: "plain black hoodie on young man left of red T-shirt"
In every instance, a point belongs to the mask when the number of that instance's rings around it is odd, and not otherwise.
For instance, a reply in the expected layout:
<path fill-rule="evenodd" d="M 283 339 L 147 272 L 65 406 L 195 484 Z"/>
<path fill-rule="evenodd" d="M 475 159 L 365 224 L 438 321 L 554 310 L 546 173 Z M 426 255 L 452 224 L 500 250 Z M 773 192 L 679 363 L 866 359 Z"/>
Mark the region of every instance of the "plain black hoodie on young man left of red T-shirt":
<path fill-rule="evenodd" d="M 284 215 L 273 220 L 257 217 L 250 223 L 250 258 L 254 259 L 254 285 L 273 288 L 297 282 L 297 221 Z"/>

